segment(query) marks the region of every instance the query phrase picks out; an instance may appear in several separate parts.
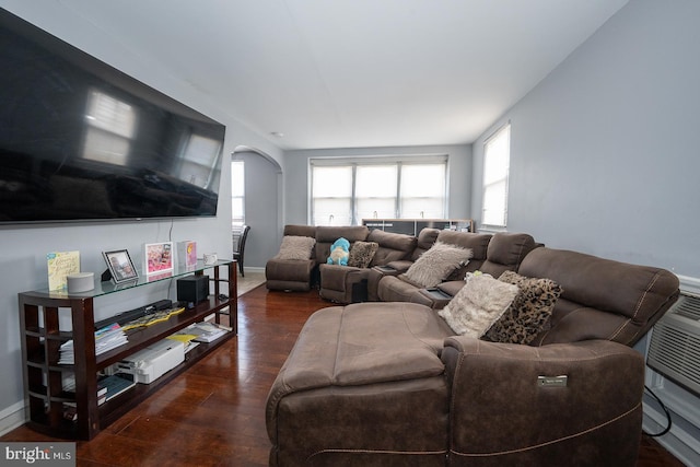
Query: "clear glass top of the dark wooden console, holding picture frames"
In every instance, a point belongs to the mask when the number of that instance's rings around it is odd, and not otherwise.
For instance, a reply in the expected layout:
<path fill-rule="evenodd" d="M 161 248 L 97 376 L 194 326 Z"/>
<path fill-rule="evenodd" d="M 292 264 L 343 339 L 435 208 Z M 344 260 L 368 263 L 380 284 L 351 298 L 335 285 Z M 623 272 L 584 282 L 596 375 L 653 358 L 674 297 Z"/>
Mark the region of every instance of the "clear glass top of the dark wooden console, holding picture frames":
<path fill-rule="evenodd" d="M 141 271 L 139 271 L 138 279 L 135 279 L 129 282 L 122 282 L 122 283 L 114 283 L 114 281 L 112 280 L 102 282 L 100 280 L 102 276 L 102 272 L 101 272 L 101 273 L 95 273 L 95 288 L 93 290 L 89 290 L 85 292 L 68 293 L 68 291 L 49 291 L 48 288 L 46 288 L 46 289 L 35 290 L 31 292 L 25 292 L 25 294 L 31 296 L 46 297 L 46 299 L 63 299 L 63 300 L 65 299 L 91 299 L 91 297 L 107 295 L 109 293 L 119 292 L 127 289 L 135 289 L 141 285 L 152 284 L 155 282 L 160 282 L 160 281 L 173 279 L 173 278 L 188 276 L 198 271 L 203 271 L 206 269 L 212 269 L 218 266 L 230 265 L 231 262 L 233 262 L 233 260 L 231 259 L 219 259 L 217 262 L 212 265 L 205 265 L 203 260 L 198 259 L 196 266 L 175 267 L 174 270 L 167 271 L 167 272 L 145 276 L 145 275 L 142 275 Z"/>

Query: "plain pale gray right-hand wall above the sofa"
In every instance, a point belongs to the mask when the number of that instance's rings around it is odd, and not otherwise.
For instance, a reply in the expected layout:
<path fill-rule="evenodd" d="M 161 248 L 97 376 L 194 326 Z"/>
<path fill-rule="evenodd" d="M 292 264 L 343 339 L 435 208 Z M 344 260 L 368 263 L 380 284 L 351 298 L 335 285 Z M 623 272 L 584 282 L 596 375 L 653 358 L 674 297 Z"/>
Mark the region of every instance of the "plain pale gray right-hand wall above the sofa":
<path fill-rule="evenodd" d="M 475 142 L 475 217 L 483 140 L 510 120 L 509 231 L 697 282 L 698 20 L 689 0 L 632 0 L 612 16 Z M 660 442 L 699 465 L 700 399 L 668 381 L 655 389 L 674 417 Z M 661 431 L 663 415 L 656 421 Z"/>

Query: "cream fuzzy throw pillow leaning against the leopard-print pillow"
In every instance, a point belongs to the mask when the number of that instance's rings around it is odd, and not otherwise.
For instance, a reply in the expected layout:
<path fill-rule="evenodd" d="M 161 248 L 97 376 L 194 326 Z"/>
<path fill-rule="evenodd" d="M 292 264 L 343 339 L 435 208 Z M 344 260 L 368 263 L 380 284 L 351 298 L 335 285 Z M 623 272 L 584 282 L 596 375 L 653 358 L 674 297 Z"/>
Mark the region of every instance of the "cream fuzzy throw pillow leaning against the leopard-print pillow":
<path fill-rule="evenodd" d="M 518 291 L 517 285 L 491 276 L 474 276 L 438 314 L 456 334 L 479 338 L 503 315 Z"/>

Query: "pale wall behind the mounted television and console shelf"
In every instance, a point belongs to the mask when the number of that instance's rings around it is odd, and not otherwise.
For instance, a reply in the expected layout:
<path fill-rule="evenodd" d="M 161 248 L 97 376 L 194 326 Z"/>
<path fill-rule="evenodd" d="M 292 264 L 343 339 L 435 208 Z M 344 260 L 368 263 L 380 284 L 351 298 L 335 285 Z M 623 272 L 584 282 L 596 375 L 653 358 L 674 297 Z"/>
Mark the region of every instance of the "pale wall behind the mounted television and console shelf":
<path fill-rule="evenodd" d="M 38 24 L 49 33 L 67 40 L 121 71 L 184 102 L 190 107 L 226 126 L 226 140 L 222 166 L 222 186 L 218 217 L 199 220 L 144 221 L 120 223 L 51 224 L 44 226 L 0 227 L 0 314 L 3 326 L 0 336 L 0 432 L 24 417 L 21 345 L 19 337 L 18 293 L 47 285 L 46 254 L 51 250 L 78 249 L 82 270 L 102 272 L 105 269 L 101 253 L 106 249 L 128 248 L 135 261 L 141 260 L 140 247 L 147 242 L 194 240 L 198 250 L 217 252 L 231 257 L 231 168 L 229 154 L 236 147 L 256 148 L 282 161 L 281 151 L 260 136 L 234 120 L 215 100 L 202 94 L 187 83 L 159 70 L 143 57 L 124 49 L 119 42 L 101 34 L 90 23 L 66 9 L 60 2 L 27 2 L 2 0 L 0 5 L 25 20 Z M 170 282 L 170 281 L 167 281 Z M 101 299 L 97 317 L 144 305 L 165 296 L 175 299 L 174 285 L 168 283 L 149 287 L 138 293 L 118 294 L 116 299 Z M 118 300 L 117 300 L 118 299 Z"/>

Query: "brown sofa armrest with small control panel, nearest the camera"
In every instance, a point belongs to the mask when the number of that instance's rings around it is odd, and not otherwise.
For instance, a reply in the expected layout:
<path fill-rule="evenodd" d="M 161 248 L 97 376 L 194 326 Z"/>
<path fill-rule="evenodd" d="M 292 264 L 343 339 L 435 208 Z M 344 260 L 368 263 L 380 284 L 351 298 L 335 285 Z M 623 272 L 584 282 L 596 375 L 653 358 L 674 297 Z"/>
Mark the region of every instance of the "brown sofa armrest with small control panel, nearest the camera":
<path fill-rule="evenodd" d="M 637 462 L 644 388 L 637 351 L 606 340 L 529 347 L 450 337 L 441 359 L 453 395 L 453 465 Z"/>

